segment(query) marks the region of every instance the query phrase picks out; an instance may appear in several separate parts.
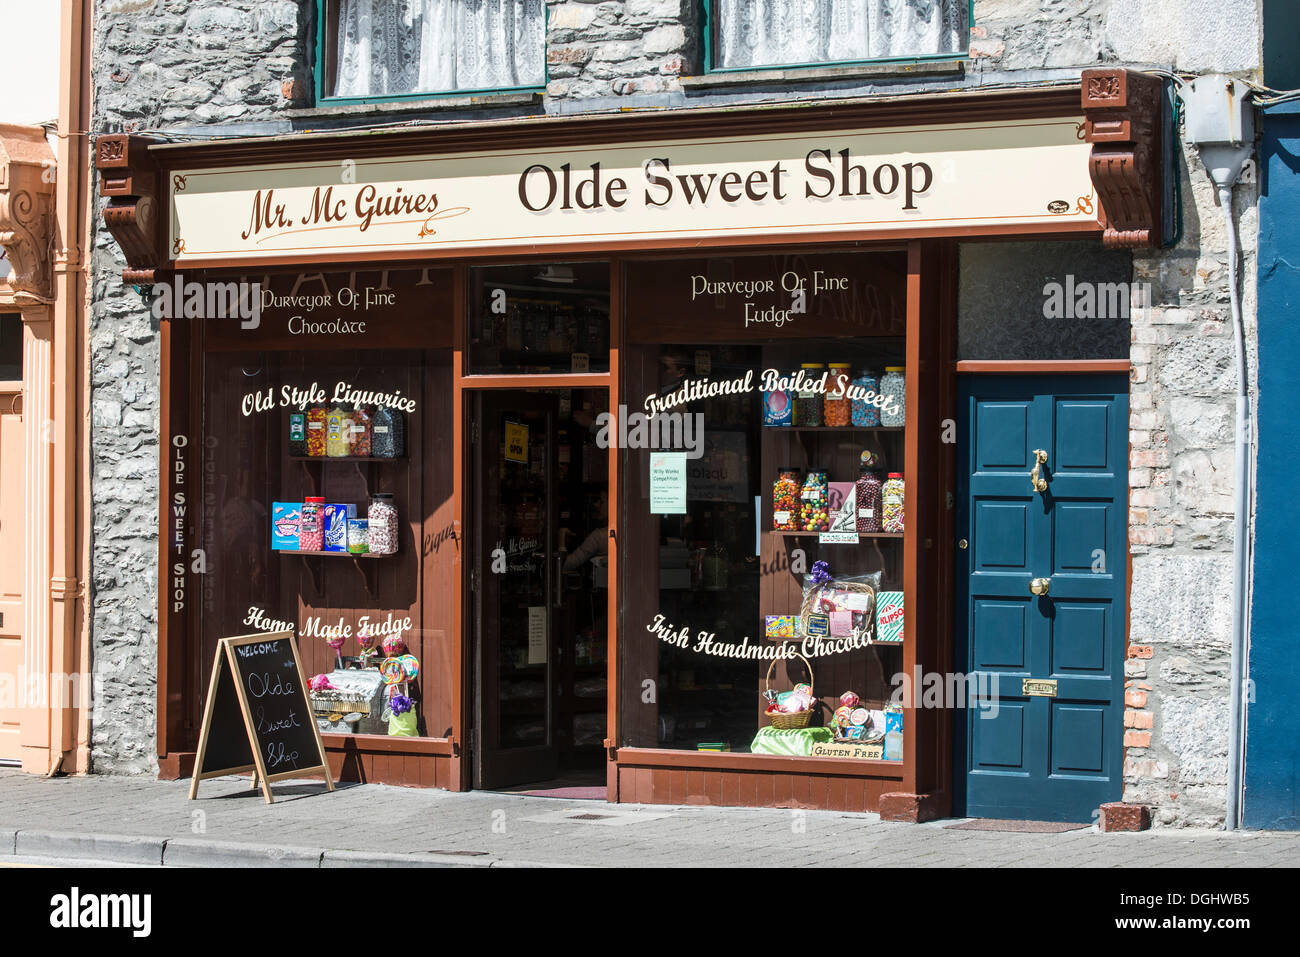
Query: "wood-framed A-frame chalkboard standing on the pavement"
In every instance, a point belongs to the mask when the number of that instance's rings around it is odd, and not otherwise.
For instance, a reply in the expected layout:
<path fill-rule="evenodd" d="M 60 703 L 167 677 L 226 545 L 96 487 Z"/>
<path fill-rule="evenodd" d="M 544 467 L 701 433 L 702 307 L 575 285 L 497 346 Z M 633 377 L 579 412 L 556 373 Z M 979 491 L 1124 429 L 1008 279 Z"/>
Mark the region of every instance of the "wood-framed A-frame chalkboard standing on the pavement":
<path fill-rule="evenodd" d="M 199 781 L 244 771 L 254 787 L 261 781 L 266 804 L 270 785 L 286 778 L 324 774 L 334 789 L 292 632 L 217 641 L 190 800 Z"/>

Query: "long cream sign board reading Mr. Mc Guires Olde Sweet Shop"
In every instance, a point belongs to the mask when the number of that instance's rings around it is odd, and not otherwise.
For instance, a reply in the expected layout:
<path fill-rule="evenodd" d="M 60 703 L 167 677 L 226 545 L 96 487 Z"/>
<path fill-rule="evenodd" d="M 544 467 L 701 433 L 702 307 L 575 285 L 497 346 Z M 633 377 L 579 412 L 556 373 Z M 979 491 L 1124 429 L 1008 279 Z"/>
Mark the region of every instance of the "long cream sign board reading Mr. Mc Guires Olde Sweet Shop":
<path fill-rule="evenodd" d="M 178 169 L 187 263 L 719 242 L 779 234 L 1088 229 L 1080 117 Z"/>

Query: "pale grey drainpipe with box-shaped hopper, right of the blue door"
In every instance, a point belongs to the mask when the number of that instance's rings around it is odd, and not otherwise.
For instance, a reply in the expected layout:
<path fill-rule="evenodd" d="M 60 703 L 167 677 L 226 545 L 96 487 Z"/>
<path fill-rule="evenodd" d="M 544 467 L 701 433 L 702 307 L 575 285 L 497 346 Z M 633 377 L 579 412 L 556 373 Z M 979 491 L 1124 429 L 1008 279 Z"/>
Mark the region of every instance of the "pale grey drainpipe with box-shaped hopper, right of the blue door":
<path fill-rule="evenodd" d="M 1227 809 L 1223 827 L 1242 826 L 1245 765 L 1245 696 L 1251 592 L 1251 387 L 1245 354 L 1245 322 L 1239 289 L 1240 248 L 1232 191 L 1242 166 L 1254 152 L 1254 108 L 1249 87 L 1223 75 L 1199 77 L 1179 87 L 1187 117 L 1186 139 L 1200 152 L 1205 172 L 1218 192 L 1227 226 L 1228 299 L 1232 309 L 1232 345 L 1236 354 L 1236 450 L 1232 516 L 1232 666 L 1228 703 Z"/>

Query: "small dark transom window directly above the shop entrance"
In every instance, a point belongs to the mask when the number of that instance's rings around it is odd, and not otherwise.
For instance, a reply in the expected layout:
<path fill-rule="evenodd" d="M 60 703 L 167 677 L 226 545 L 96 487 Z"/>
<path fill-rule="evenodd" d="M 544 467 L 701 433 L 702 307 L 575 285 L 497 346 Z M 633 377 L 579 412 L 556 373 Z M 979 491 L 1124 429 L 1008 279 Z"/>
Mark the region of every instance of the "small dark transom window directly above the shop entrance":
<path fill-rule="evenodd" d="M 608 371 L 608 263 L 469 270 L 471 374 Z"/>

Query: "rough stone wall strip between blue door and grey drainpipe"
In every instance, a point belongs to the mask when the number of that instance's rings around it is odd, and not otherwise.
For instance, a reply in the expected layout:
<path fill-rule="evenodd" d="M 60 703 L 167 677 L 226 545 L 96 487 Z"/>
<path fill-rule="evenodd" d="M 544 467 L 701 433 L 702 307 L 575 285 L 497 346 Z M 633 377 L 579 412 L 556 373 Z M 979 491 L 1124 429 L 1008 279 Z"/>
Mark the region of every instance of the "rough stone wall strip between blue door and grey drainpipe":
<path fill-rule="evenodd" d="M 1134 256 L 1152 306 L 1134 313 L 1132 554 L 1124 800 L 1160 824 L 1219 824 L 1226 807 L 1236 369 L 1227 231 L 1187 151 L 1184 235 Z M 1236 190 L 1243 315 L 1254 378 L 1258 190 Z"/>

